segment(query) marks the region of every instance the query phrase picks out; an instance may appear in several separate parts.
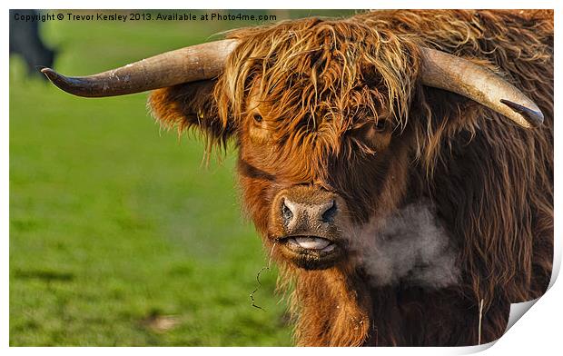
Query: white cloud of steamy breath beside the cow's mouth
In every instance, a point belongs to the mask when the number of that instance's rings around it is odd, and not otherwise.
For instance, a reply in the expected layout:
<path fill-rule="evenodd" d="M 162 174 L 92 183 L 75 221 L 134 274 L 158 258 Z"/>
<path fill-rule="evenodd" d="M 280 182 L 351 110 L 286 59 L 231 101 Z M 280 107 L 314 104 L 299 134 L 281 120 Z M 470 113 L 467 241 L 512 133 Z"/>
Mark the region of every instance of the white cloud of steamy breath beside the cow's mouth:
<path fill-rule="evenodd" d="M 351 249 L 373 286 L 405 282 L 443 288 L 459 281 L 456 249 L 430 203 L 372 219 L 353 233 Z"/>

